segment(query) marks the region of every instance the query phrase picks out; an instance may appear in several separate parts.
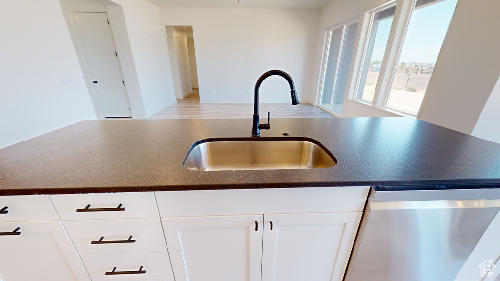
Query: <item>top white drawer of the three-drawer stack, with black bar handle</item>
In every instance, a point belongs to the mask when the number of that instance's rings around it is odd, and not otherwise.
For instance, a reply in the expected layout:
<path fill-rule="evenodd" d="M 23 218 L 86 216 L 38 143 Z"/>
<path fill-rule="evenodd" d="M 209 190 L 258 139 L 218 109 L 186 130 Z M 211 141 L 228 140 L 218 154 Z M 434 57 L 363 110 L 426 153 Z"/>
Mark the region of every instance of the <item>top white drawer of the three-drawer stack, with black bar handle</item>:
<path fill-rule="evenodd" d="M 158 217 L 153 192 L 49 196 L 62 220 Z"/>

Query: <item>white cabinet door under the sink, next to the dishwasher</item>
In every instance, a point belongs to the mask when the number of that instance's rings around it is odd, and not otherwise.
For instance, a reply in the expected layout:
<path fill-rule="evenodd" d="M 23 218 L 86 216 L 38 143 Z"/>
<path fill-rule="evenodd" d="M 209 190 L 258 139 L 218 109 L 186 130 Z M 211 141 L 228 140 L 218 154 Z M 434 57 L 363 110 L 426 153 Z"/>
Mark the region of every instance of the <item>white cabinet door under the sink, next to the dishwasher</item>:
<path fill-rule="evenodd" d="M 262 281 L 341 280 L 360 219 L 361 212 L 264 215 Z"/>

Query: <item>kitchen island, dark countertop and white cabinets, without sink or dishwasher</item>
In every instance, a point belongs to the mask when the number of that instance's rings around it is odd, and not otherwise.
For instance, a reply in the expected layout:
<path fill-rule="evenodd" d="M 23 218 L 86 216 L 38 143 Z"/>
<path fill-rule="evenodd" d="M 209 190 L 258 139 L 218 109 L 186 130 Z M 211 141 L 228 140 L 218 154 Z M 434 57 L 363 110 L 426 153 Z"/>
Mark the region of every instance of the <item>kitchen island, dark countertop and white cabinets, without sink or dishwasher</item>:
<path fill-rule="evenodd" d="M 250 119 L 88 120 L 0 149 L 0 279 L 340 281 L 370 185 L 500 184 L 500 144 L 412 118 L 250 129 Z M 182 164 L 201 139 L 301 137 L 336 165 Z M 483 227 L 500 200 L 490 204 Z"/>

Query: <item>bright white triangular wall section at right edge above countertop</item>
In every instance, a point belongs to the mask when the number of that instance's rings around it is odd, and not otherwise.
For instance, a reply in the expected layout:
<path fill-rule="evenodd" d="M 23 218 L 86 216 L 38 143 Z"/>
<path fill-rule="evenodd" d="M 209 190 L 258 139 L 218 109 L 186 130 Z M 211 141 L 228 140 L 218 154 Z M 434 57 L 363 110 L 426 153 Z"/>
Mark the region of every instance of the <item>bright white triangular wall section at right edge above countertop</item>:
<path fill-rule="evenodd" d="M 472 135 L 500 143 L 500 77 L 472 130 Z"/>

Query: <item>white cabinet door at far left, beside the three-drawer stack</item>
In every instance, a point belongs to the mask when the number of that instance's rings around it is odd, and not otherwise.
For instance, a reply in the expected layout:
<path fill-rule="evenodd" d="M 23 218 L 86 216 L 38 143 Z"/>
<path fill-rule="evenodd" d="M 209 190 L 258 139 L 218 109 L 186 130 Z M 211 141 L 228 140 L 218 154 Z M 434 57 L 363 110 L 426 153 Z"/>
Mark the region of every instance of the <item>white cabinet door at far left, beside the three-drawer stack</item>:
<path fill-rule="evenodd" d="M 0 232 L 0 280 L 90 281 L 60 221 L 1 222 Z"/>

